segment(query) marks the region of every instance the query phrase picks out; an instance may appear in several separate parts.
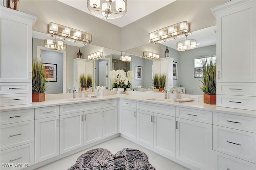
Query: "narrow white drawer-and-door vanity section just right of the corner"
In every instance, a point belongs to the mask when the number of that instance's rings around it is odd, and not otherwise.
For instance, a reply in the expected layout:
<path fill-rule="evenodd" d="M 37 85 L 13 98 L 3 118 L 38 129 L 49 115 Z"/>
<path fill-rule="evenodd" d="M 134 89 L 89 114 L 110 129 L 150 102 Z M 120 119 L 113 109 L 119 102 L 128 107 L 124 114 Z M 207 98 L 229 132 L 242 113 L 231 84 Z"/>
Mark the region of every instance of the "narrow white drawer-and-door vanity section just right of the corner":
<path fill-rule="evenodd" d="M 137 140 L 136 101 L 121 99 L 121 133 L 132 140 Z"/>

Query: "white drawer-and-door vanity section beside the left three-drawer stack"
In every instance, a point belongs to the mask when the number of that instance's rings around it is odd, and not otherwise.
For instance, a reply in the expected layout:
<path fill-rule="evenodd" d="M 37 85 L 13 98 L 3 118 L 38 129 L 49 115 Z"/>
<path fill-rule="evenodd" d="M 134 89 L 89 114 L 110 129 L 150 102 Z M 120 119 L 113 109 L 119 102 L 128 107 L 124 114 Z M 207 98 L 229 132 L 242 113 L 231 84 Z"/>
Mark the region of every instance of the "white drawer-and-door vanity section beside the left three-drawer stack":
<path fill-rule="evenodd" d="M 59 106 L 35 109 L 35 162 L 60 154 Z"/>

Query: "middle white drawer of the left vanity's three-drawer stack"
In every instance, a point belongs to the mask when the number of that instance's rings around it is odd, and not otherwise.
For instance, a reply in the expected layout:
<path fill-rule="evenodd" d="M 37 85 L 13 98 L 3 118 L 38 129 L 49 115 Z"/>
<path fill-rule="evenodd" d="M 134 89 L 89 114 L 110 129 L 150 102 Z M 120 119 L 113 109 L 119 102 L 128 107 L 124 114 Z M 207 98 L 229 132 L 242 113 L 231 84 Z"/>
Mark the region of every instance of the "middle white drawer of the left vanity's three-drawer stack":
<path fill-rule="evenodd" d="M 1 150 L 34 142 L 34 121 L 1 125 Z"/>

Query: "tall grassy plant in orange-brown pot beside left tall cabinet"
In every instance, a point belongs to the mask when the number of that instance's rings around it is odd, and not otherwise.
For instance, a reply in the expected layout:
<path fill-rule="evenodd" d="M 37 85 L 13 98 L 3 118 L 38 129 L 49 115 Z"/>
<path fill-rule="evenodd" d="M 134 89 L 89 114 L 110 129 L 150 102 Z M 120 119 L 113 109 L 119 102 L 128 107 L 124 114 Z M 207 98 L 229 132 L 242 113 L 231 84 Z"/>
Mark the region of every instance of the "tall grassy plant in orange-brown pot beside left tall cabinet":
<path fill-rule="evenodd" d="M 45 66 L 42 60 L 32 59 L 32 102 L 45 101 L 45 91 L 47 89 L 47 75 L 44 73 Z M 49 73 L 48 73 L 49 74 Z"/>

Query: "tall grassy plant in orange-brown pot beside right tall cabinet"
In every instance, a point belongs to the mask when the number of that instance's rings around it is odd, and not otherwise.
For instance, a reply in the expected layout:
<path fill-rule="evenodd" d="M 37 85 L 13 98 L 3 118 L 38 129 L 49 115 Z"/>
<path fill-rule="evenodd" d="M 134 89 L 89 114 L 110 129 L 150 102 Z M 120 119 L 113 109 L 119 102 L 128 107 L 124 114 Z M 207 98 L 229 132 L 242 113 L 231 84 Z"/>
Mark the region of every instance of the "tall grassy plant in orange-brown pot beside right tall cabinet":
<path fill-rule="evenodd" d="M 203 80 L 200 89 L 204 92 L 204 103 L 216 104 L 216 60 L 207 57 L 201 60 Z"/>

